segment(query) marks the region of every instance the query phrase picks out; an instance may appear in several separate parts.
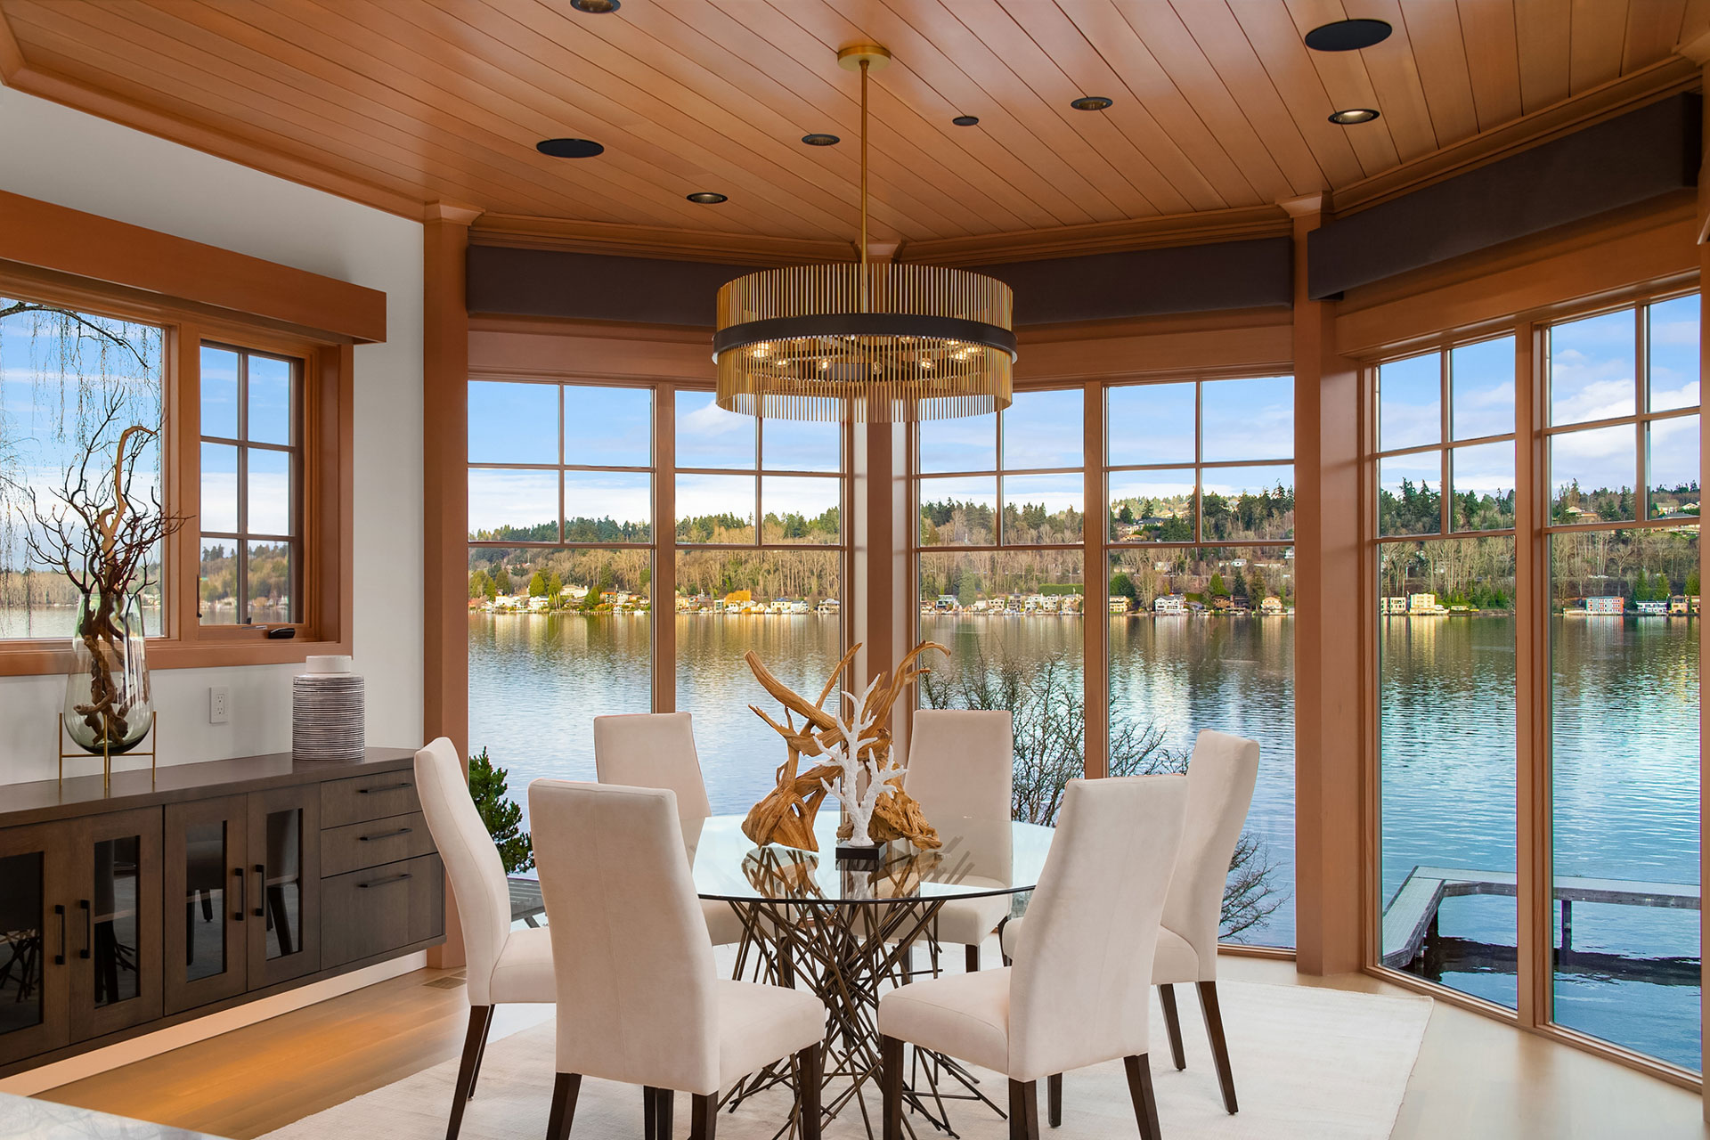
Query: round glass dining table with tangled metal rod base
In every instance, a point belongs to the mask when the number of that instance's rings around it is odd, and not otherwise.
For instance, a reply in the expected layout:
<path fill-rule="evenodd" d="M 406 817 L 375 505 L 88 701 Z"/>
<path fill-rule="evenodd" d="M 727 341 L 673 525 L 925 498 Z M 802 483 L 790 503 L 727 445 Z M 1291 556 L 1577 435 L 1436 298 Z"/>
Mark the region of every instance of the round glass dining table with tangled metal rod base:
<path fill-rule="evenodd" d="M 876 858 L 857 861 L 836 856 L 838 815 L 826 810 L 814 820 L 817 851 L 756 844 L 742 834 L 740 815 L 689 820 L 684 841 L 696 892 L 727 902 L 742 923 L 735 974 L 805 988 L 824 1002 L 823 1111 L 829 1119 L 858 1102 L 872 1135 L 879 1114 L 867 1111 L 865 1090 L 877 1094 L 879 1087 L 879 996 L 917 974 L 939 973 L 937 920 L 946 906 L 985 899 L 985 909 L 1007 914 L 1000 899 L 1038 884 L 1052 829 L 932 819 L 937 848 L 896 839 L 881 844 Z M 927 966 L 918 969 L 917 949 L 927 952 Z M 946 1101 L 978 1099 L 1002 1113 L 951 1058 L 917 1060 L 910 1077 L 906 1108 L 951 1135 Z M 966 1092 L 946 1092 L 944 1077 Z M 759 1073 L 730 1101 L 788 1078 L 787 1068 Z"/>

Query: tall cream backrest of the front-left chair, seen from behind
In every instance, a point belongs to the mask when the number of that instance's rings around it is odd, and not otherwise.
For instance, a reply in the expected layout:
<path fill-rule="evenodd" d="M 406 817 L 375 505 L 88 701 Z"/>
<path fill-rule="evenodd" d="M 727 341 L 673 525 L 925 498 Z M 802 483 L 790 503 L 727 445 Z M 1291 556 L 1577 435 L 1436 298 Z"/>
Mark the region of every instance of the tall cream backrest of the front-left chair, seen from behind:
<path fill-rule="evenodd" d="M 537 779 L 557 1072 L 718 1092 L 713 943 L 669 788 Z"/>

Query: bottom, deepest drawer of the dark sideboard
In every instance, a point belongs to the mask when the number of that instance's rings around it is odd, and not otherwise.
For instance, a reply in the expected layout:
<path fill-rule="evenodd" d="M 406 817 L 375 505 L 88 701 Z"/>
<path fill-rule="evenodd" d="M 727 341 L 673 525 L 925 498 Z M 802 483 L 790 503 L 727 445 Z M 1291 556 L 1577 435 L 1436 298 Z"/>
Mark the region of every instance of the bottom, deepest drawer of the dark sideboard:
<path fill-rule="evenodd" d="M 321 969 L 445 933 L 439 856 L 321 879 Z"/>

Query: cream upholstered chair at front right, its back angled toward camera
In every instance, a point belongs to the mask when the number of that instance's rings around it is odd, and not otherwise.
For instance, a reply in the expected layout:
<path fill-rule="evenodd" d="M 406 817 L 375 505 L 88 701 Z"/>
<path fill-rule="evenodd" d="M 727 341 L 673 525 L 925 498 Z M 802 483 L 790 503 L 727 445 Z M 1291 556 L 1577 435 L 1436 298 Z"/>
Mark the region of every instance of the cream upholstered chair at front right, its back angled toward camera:
<path fill-rule="evenodd" d="M 1147 1000 L 1187 778 L 1072 779 L 1014 966 L 879 998 L 884 1138 L 901 1140 L 903 1043 L 1009 1077 L 1011 1140 L 1036 1140 L 1041 1077 L 1123 1058 L 1144 1140 L 1158 1138 Z"/>

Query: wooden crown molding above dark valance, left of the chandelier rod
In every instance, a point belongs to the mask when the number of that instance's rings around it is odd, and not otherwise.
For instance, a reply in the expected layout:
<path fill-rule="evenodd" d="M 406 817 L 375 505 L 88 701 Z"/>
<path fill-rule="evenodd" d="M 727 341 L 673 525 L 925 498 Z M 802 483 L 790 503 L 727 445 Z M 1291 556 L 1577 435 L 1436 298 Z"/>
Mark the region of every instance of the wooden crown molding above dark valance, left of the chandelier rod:
<path fill-rule="evenodd" d="M 857 256 L 853 241 L 720 234 L 711 231 L 670 229 L 665 226 L 578 222 L 568 217 L 527 217 L 522 214 L 484 214 L 481 224 L 470 229 L 469 241 L 477 246 L 566 250 L 571 253 L 605 253 L 631 258 L 734 265 L 814 265 L 819 261 L 848 261 Z"/>

